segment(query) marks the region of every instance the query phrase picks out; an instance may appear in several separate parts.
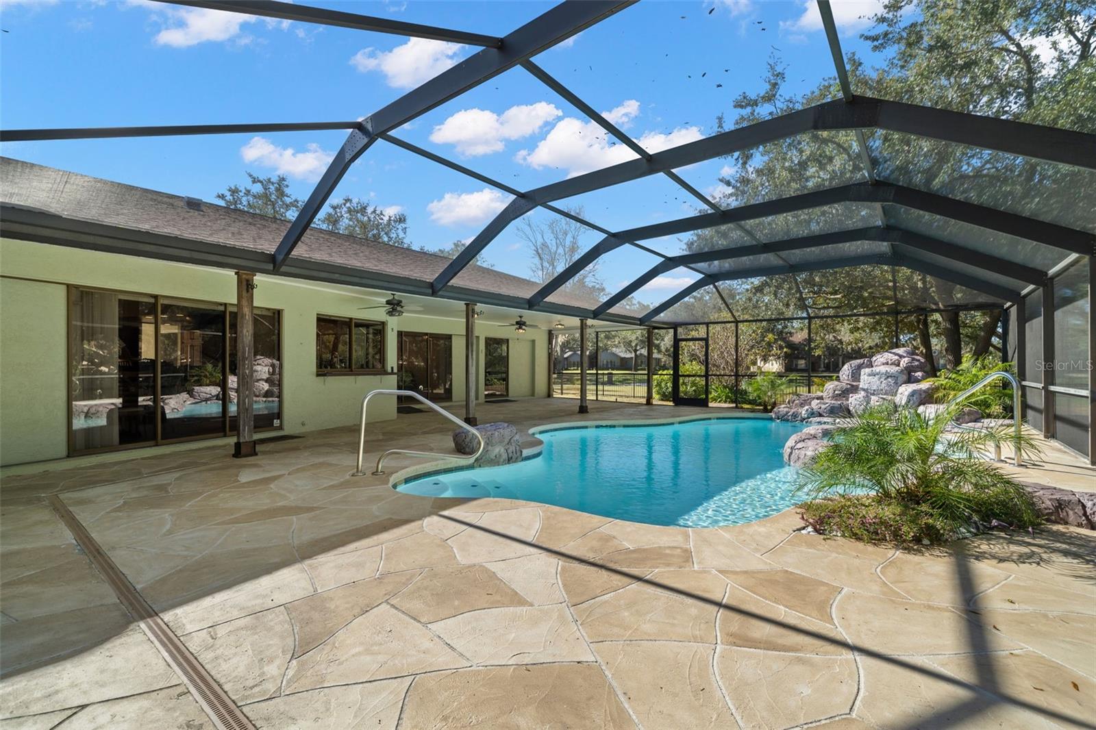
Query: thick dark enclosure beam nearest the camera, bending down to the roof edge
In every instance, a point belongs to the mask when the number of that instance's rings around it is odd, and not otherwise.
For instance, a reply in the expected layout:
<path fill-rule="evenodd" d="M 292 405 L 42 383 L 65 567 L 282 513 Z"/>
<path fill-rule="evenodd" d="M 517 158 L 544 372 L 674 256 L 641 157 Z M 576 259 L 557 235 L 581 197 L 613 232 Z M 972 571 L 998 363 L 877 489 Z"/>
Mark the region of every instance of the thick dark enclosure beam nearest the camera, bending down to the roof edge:
<path fill-rule="evenodd" d="M 293 253 L 305 231 L 312 225 L 316 216 L 328 202 L 335 185 L 346 174 L 350 166 L 368 149 L 377 135 L 391 132 L 513 68 L 526 58 L 581 33 L 591 25 L 624 10 L 633 1 L 567 0 L 506 35 L 502 39 L 501 47 L 480 50 L 363 119 L 362 128 L 365 132 L 351 133 L 331 164 L 328 166 L 323 176 L 320 178 L 320 182 L 311 195 L 308 196 L 305 205 L 301 206 L 300 213 L 297 214 L 289 229 L 282 237 L 282 242 L 278 243 L 277 250 L 274 252 L 274 271 L 279 270 L 285 264 L 285 260 Z M 466 247 L 466 251 L 470 248 L 470 244 Z M 465 264 L 471 261 L 480 250 L 473 251 L 465 260 Z M 449 270 L 446 269 L 446 271 Z M 456 275 L 456 272 L 453 275 Z M 453 276 L 446 278 L 446 283 L 452 278 Z M 435 290 L 436 288 L 438 287 L 435 287 Z"/>

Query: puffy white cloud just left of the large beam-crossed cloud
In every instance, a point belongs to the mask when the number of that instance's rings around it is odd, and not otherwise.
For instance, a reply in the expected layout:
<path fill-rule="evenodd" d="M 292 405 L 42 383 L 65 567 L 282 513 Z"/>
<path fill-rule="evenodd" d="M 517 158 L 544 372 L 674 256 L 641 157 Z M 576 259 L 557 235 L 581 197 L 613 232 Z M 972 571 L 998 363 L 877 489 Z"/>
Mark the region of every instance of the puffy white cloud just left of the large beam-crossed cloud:
<path fill-rule="evenodd" d="M 434 127 L 430 140 L 454 145 L 465 157 L 490 155 L 501 151 L 505 140 L 528 137 L 562 115 L 548 102 L 511 106 L 502 116 L 482 109 L 466 109 Z"/>

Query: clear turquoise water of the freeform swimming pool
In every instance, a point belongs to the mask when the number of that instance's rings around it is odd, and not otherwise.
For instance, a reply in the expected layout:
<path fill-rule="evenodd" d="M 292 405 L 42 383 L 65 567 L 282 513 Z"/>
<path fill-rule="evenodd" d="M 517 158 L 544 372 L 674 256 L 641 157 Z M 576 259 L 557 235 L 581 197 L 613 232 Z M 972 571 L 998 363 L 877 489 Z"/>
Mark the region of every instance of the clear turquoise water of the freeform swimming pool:
<path fill-rule="evenodd" d="M 424 497 L 498 497 L 651 525 L 715 527 L 761 520 L 801 499 L 781 449 L 801 424 L 707 419 L 541 432 L 521 464 L 411 479 Z"/>

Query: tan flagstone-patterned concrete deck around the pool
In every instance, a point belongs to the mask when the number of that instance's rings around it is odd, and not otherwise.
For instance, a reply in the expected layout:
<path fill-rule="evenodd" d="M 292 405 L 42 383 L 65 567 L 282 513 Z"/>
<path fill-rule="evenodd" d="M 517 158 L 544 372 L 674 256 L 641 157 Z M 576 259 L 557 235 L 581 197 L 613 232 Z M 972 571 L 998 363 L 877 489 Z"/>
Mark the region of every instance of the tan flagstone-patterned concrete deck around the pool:
<path fill-rule="evenodd" d="M 590 419 L 685 409 L 592 403 Z M 522 429 L 574 401 L 483 407 Z M 437 448 L 435 414 L 379 424 Z M 353 429 L 4 479 L 0 730 L 204 728 L 58 494 L 260 728 L 1092 727 L 1096 536 L 900 551 L 352 478 Z M 391 471 L 413 460 L 393 458 Z M 1025 477 L 1093 488 L 1048 450 Z"/>

